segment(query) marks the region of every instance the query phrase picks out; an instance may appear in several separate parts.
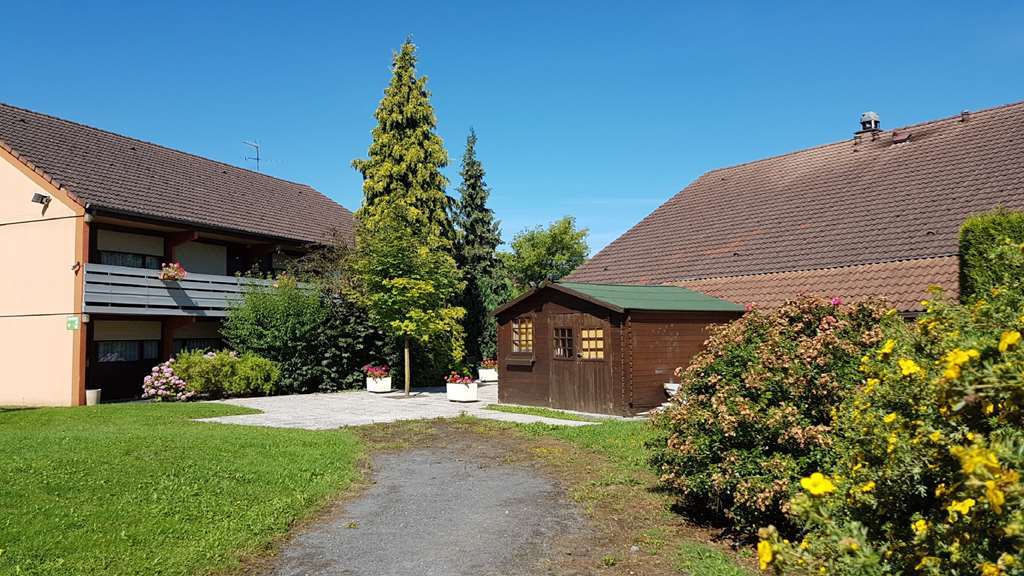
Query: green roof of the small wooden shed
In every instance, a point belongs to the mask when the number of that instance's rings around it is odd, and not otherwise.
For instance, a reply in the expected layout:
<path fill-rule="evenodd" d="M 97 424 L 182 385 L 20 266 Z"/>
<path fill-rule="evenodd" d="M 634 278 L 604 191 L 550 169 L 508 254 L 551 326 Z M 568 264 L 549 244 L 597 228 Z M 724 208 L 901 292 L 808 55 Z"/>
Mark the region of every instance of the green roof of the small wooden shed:
<path fill-rule="evenodd" d="M 743 306 L 679 286 L 630 286 L 559 282 L 568 288 L 623 310 L 673 312 L 742 312 Z"/>

